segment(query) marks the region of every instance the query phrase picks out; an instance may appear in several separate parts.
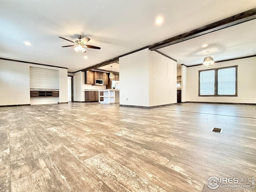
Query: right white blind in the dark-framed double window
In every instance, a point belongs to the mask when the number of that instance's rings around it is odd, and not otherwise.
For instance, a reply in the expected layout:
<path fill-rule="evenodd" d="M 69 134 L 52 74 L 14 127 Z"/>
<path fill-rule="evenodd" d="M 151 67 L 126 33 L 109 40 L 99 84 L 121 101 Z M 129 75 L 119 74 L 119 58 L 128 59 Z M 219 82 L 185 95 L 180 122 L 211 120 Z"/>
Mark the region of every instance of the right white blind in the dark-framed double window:
<path fill-rule="evenodd" d="M 218 95 L 236 94 L 236 68 L 218 70 Z"/>

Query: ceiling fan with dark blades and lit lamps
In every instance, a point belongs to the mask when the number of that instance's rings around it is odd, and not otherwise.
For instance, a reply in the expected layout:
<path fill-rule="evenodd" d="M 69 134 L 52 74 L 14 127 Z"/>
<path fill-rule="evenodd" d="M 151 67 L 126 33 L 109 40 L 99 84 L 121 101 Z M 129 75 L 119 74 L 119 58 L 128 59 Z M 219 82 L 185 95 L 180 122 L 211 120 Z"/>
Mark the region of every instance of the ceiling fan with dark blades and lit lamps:
<path fill-rule="evenodd" d="M 62 38 L 64 40 L 67 40 L 67 41 L 70 41 L 70 42 L 74 43 L 74 45 L 67 45 L 67 46 L 62 46 L 62 47 L 75 47 L 74 49 L 77 52 L 79 51 L 79 53 L 80 53 L 80 51 L 82 51 L 83 53 L 86 53 L 85 48 L 100 49 L 100 47 L 96 47 L 96 46 L 92 46 L 92 45 L 86 45 L 86 43 L 88 41 L 90 41 L 90 38 L 88 38 L 88 37 L 83 38 L 82 35 L 77 35 L 78 40 L 76 40 L 75 42 L 71 41 L 71 40 L 68 40 L 68 39 L 65 39 L 63 37 L 59 37 L 59 38 Z"/>

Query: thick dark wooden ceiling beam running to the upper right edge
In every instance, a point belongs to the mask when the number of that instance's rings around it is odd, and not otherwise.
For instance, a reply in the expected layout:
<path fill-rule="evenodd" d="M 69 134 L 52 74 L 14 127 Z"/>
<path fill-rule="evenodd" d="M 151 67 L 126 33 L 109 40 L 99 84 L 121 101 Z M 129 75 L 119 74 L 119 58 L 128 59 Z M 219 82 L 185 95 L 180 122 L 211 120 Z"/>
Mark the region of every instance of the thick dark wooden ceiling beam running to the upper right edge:
<path fill-rule="evenodd" d="M 178 36 L 152 44 L 149 46 L 149 50 L 154 51 L 154 50 L 157 50 L 166 46 L 170 46 L 179 42 L 183 42 L 198 36 L 202 36 L 214 31 L 228 28 L 230 26 L 241 24 L 243 22 L 250 21 L 253 19 L 256 19 L 256 8 L 231 16 L 229 18 L 214 22 L 212 24 L 197 28 L 190 32 L 186 32 L 184 34 L 180 34 Z"/>

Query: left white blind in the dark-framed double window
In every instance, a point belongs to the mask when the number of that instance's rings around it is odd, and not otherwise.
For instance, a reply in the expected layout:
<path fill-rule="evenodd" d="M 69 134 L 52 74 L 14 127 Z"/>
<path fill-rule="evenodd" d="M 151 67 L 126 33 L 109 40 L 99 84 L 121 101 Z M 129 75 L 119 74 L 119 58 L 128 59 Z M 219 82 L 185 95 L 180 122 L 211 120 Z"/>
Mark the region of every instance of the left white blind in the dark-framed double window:
<path fill-rule="evenodd" d="M 200 72 L 200 95 L 214 95 L 215 70 Z"/>

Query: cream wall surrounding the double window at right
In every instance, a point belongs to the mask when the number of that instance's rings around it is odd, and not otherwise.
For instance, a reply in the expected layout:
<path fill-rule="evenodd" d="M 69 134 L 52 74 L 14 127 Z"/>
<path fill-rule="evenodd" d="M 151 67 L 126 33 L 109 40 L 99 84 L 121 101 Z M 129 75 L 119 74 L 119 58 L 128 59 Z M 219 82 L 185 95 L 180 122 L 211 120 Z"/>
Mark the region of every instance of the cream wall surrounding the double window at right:
<path fill-rule="evenodd" d="M 187 68 L 187 101 L 256 103 L 256 57 L 215 63 L 213 68 L 234 65 L 238 65 L 237 97 L 199 97 L 198 70 L 206 69 L 205 66 L 201 65 Z"/>

